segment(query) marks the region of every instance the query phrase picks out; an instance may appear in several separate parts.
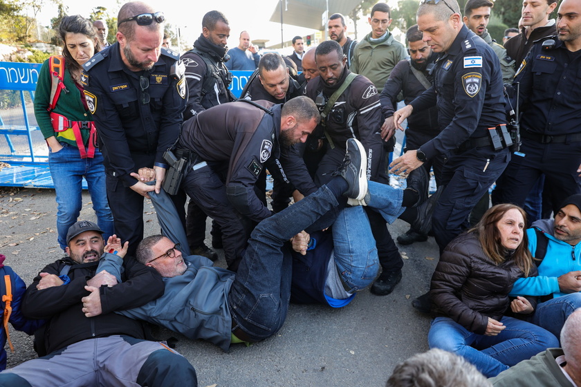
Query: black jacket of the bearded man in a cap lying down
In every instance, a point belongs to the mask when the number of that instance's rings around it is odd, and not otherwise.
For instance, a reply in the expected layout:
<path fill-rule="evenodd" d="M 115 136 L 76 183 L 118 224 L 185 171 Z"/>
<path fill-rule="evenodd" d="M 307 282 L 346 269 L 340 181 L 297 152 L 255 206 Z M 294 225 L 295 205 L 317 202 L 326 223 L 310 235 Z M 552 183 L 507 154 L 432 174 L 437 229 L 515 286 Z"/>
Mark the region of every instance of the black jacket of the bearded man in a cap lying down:
<path fill-rule="evenodd" d="M 24 294 L 22 312 L 31 319 L 47 319 L 44 348 L 48 353 L 73 343 L 95 337 L 126 334 L 145 339 L 142 323 L 120 314 L 125 310 L 144 305 L 163 295 L 161 276 L 151 267 L 145 267 L 133 258 L 124 258 L 123 283 L 100 288 L 102 314 L 87 318 L 82 312 L 81 299 L 88 296 L 86 281 L 95 276 L 98 262 L 77 264 L 63 258 L 44 267 L 42 272 L 59 276 L 62 267 L 72 265 L 68 272 L 70 283 L 37 290 L 41 279 L 37 276 Z"/>

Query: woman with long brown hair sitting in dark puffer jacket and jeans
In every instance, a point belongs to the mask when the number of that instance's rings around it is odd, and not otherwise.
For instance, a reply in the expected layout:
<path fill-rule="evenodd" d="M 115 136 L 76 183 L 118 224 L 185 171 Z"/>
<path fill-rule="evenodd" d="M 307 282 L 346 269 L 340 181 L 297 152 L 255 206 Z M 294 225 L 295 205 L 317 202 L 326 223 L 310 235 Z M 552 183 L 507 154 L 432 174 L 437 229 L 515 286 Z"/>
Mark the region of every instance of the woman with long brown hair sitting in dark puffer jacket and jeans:
<path fill-rule="evenodd" d="M 530 314 L 534 299 L 508 293 L 521 277 L 537 275 L 528 251 L 526 214 L 515 205 L 495 205 L 480 222 L 445 248 L 432 276 L 436 318 L 428 343 L 463 356 L 494 377 L 559 341 L 543 328 L 505 316 Z"/>

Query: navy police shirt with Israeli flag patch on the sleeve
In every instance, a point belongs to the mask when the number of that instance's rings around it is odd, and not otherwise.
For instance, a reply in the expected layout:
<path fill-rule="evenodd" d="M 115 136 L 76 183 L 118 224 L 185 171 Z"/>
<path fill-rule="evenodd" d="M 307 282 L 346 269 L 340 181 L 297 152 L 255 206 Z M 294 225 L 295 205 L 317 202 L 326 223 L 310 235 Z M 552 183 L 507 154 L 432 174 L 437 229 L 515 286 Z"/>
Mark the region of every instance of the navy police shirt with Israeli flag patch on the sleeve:
<path fill-rule="evenodd" d="M 428 159 L 457 149 L 469 138 L 488 136 L 490 127 L 506 124 L 498 57 L 468 27 L 462 26 L 436 62 L 433 82 L 410 103 L 414 112 L 434 104 L 438 107 L 441 133 L 421 147 Z"/>

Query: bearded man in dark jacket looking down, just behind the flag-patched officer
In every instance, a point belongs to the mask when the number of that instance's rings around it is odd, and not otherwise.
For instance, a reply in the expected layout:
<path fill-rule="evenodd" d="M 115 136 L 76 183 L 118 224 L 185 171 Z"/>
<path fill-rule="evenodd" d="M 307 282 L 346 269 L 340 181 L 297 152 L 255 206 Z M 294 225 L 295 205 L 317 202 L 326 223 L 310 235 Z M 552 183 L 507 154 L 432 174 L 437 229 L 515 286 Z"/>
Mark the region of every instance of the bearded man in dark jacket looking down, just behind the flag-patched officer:
<path fill-rule="evenodd" d="M 417 24 L 407 30 L 405 38 L 409 58 L 400 61 L 394 70 L 391 70 L 389 79 L 385 82 L 379 96 L 381 111 L 385 118 L 381 127 L 381 137 L 384 141 L 388 141 L 395 132 L 394 106 L 398 102 L 399 95 L 403 93 L 405 104 L 409 104 L 418 95 L 430 88 L 432 86 L 432 68 L 439 57 L 439 54 L 434 53 L 432 48 L 425 41 L 422 41 L 422 33 L 418 31 Z M 407 129 L 405 130 L 405 149 L 418 149 L 439 133 L 436 106 L 411 115 L 407 119 Z M 434 177 L 438 186 L 441 185 L 444 164 L 444 156 L 437 155 L 422 165 L 428 173 L 434 167 Z M 409 176 L 408 180 L 409 178 L 412 176 Z M 414 242 L 423 242 L 424 240 L 427 240 L 427 234 L 421 234 L 414 228 L 410 228 L 404 235 L 398 236 L 398 242 L 401 245 L 411 245 Z"/>

